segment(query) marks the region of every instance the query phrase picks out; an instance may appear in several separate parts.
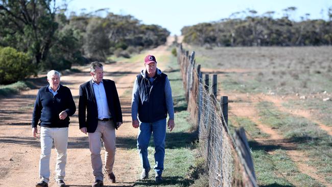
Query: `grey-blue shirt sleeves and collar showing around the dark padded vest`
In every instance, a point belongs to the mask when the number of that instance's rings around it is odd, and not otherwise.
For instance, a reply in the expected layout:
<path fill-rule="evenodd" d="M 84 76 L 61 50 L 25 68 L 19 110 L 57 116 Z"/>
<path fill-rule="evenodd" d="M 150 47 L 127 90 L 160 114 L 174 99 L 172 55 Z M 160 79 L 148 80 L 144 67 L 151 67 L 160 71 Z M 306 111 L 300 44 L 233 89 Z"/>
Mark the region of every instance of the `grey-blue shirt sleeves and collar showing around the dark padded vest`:
<path fill-rule="evenodd" d="M 146 77 L 146 69 L 141 71 L 141 75 Z M 161 70 L 157 68 L 158 75 L 161 74 Z M 149 78 L 149 81 L 152 83 L 154 78 Z M 166 100 L 166 107 L 168 110 L 168 114 L 170 119 L 174 120 L 174 106 L 173 106 L 173 98 L 172 98 L 172 88 L 170 84 L 170 80 L 166 77 L 165 79 L 165 100 Z M 138 113 L 138 103 L 139 103 L 139 92 L 138 92 L 138 83 L 137 77 L 134 82 L 133 92 L 132 92 L 132 100 L 131 100 L 131 118 L 132 120 L 137 120 L 137 113 Z"/>

